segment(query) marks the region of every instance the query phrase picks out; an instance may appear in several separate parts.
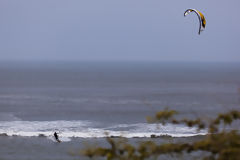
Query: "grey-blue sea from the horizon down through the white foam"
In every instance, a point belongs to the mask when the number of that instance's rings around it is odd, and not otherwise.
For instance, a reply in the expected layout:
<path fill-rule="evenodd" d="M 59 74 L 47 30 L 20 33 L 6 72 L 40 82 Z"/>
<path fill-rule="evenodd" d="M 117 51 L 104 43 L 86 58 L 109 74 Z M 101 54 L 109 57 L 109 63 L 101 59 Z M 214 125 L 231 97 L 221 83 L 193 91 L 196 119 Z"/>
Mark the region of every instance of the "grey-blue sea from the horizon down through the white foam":
<path fill-rule="evenodd" d="M 240 107 L 239 63 L 4 62 L 0 134 L 73 137 L 188 137 L 182 125 L 146 123 L 166 107 L 210 119 Z"/>

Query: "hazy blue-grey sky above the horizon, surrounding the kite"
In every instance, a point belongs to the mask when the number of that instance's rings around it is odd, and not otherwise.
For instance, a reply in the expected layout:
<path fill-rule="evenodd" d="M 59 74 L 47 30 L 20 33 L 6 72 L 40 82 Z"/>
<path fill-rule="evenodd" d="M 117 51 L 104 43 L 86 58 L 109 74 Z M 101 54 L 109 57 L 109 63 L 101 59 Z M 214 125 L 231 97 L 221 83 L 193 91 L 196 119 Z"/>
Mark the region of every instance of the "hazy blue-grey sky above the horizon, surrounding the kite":
<path fill-rule="evenodd" d="M 239 0 L 0 0 L 0 60 L 240 62 Z M 206 30 L 198 35 L 198 18 Z"/>

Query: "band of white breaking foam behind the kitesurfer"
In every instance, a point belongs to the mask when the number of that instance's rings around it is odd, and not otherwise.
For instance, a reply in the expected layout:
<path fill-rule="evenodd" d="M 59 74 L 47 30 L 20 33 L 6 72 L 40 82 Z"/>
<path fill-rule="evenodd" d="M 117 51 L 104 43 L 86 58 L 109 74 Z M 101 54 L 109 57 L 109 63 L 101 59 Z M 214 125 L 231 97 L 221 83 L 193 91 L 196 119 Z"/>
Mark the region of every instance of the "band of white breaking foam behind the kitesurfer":
<path fill-rule="evenodd" d="M 89 121 L 0 121 L 0 134 L 8 136 L 47 136 L 53 138 L 57 131 L 62 141 L 70 141 L 72 137 L 102 138 L 121 136 L 126 138 L 151 137 L 151 135 L 168 135 L 172 137 L 189 137 L 207 134 L 198 132 L 196 128 L 183 125 L 160 125 L 148 123 L 118 124 L 104 128 L 95 127 Z"/>

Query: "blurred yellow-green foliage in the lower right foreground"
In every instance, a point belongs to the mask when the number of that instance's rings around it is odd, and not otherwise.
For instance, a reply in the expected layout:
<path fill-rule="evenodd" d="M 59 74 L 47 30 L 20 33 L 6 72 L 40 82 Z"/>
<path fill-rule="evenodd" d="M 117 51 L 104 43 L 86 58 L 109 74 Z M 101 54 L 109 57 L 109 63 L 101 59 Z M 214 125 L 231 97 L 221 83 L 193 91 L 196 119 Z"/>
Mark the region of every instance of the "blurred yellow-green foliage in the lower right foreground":
<path fill-rule="evenodd" d="M 150 122 L 161 124 L 185 124 L 198 129 L 208 129 L 208 135 L 203 139 L 192 143 L 165 143 L 156 144 L 153 141 L 142 142 L 139 145 L 132 145 L 124 140 L 115 140 L 107 137 L 110 148 L 94 147 L 83 150 L 83 155 L 89 158 L 104 157 L 107 160 L 144 160 L 157 159 L 161 155 L 181 155 L 202 151 L 203 160 L 239 160 L 240 159 L 240 134 L 237 130 L 226 130 L 225 126 L 231 125 L 233 121 L 240 119 L 239 111 L 230 111 L 219 114 L 210 122 L 202 119 L 177 120 L 173 110 L 158 112 L 154 117 L 148 118 Z M 223 128 L 222 128 L 223 126 Z"/>

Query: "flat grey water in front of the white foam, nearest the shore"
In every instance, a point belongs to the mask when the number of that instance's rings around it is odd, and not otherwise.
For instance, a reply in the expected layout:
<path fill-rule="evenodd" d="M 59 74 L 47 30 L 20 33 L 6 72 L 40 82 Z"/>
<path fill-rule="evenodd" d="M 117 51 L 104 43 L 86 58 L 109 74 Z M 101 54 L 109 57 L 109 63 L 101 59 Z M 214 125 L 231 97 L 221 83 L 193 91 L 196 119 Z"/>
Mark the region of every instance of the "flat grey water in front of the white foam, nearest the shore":
<path fill-rule="evenodd" d="M 167 136 L 158 138 L 125 138 L 125 140 L 133 145 L 149 140 L 162 144 L 169 142 L 194 142 L 203 137 L 172 138 Z M 115 137 L 113 139 L 118 140 L 119 138 Z M 71 141 L 57 143 L 54 139 L 47 137 L 0 136 L 0 146 L 0 158 L 7 160 L 89 160 L 88 157 L 79 154 L 83 149 L 93 146 L 108 147 L 108 144 L 106 138 L 72 138 Z"/>

